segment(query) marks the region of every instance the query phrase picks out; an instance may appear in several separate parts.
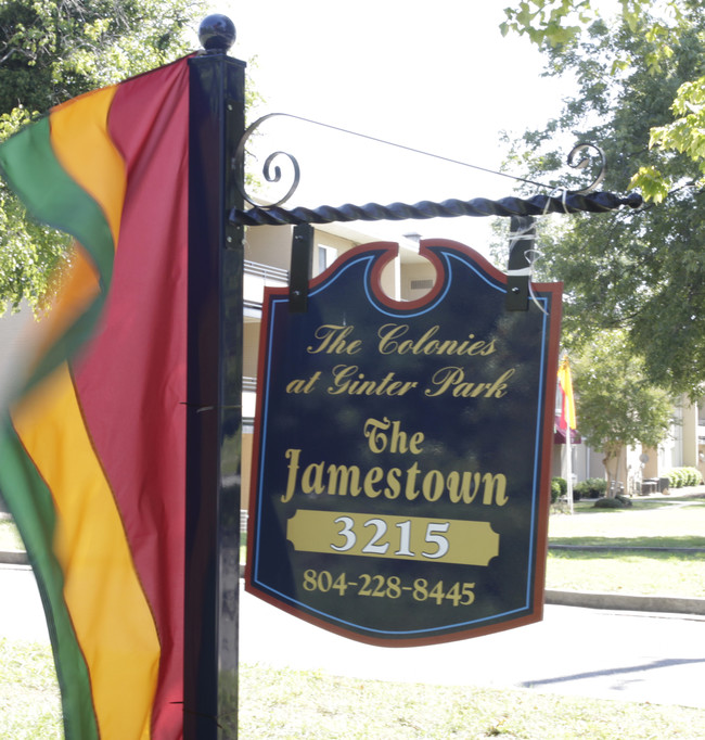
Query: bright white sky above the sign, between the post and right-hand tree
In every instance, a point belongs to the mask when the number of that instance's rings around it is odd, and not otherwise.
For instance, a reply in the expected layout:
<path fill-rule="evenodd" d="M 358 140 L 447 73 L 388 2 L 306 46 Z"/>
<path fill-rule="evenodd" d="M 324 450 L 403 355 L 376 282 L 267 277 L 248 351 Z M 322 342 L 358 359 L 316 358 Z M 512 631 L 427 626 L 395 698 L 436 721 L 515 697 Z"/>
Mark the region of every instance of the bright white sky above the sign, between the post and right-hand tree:
<path fill-rule="evenodd" d="M 249 74 L 265 98 L 257 116 L 295 114 L 489 169 L 502 162 L 501 130 L 540 126 L 561 103 L 561 82 L 540 77 L 539 53 L 525 39 L 502 38 L 507 4 L 211 0 L 213 12 L 228 15 L 238 29 L 230 54 L 248 63 L 256 58 Z M 302 182 L 287 206 L 512 194 L 505 178 L 292 119 L 267 122 L 260 132 L 255 149 L 262 163 L 278 150 L 299 162 Z M 463 217 L 366 229 L 385 238 L 410 231 L 448 237 L 482 252 L 488 224 Z"/>

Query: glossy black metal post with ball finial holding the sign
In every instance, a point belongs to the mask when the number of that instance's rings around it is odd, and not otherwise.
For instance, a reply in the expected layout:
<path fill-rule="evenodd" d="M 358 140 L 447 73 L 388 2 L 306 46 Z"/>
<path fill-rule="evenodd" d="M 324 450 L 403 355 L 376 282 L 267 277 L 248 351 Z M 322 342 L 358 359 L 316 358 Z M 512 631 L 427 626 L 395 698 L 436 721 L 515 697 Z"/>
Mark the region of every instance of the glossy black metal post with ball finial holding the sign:
<path fill-rule="evenodd" d="M 242 227 L 228 220 L 244 132 L 234 26 L 209 16 L 190 61 L 189 369 L 184 604 L 185 740 L 238 737 Z"/>

